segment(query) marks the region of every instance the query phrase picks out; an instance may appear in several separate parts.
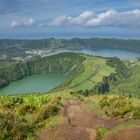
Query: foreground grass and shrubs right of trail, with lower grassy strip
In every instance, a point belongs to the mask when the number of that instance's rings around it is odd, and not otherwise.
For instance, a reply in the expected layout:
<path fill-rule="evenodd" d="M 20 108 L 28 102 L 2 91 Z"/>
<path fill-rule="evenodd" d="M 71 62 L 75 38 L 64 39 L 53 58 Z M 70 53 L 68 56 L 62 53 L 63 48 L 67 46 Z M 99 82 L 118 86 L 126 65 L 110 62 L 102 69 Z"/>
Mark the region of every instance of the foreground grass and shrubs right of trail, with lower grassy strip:
<path fill-rule="evenodd" d="M 95 111 L 105 119 L 115 118 L 122 121 L 121 124 L 112 129 L 99 127 L 97 140 L 102 140 L 104 137 L 114 135 L 126 128 L 140 128 L 139 99 L 130 99 L 118 95 L 94 95 L 85 98 L 85 100 L 87 101 L 86 110 Z"/>

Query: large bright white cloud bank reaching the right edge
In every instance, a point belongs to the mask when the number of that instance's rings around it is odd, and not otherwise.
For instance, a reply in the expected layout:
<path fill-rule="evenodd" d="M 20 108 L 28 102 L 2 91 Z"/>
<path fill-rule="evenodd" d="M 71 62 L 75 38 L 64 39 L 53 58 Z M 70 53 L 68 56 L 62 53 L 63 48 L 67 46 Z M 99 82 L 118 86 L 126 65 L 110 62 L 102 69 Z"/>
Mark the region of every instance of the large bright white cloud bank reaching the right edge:
<path fill-rule="evenodd" d="M 140 27 L 140 10 L 135 9 L 126 12 L 117 12 L 113 9 L 95 13 L 85 11 L 78 16 L 60 16 L 55 18 L 51 25 L 55 26 L 116 26 L 116 27 Z"/>

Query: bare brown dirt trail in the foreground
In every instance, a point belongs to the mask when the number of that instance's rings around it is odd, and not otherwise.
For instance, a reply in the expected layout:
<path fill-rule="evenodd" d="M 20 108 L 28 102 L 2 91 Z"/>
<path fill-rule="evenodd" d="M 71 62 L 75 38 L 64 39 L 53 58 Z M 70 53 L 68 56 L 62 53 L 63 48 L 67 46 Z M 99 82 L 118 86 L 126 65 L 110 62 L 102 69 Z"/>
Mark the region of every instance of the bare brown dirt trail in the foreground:
<path fill-rule="evenodd" d="M 85 102 L 79 100 L 68 100 L 60 110 L 67 121 L 57 128 L 42 130 L 38 140 L 96 140 L 98 128 L 111 129 L 119 124 L 125 123 L 122 120 L 105 119 L 96 112 L 85 111 Z M 105 139 L 119 140 L 119 139 Z M 127 139 L 124 139 L 127 140 Z"/>

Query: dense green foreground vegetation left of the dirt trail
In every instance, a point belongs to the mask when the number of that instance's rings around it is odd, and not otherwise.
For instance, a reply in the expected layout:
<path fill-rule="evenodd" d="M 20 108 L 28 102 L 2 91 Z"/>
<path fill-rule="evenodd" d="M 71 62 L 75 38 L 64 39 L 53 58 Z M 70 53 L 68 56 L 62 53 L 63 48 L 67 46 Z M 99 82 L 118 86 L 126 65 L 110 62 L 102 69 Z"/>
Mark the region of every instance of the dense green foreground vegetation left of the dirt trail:
<path fill-rule="evenodd" d="M 34 137 L 46 120 L 57 115 L 62 106 L 61 97 L 48 95 L 0 97 L 0 139 L 27 139 Z M 61 121 L 57 117 L 52 121 Z"/>

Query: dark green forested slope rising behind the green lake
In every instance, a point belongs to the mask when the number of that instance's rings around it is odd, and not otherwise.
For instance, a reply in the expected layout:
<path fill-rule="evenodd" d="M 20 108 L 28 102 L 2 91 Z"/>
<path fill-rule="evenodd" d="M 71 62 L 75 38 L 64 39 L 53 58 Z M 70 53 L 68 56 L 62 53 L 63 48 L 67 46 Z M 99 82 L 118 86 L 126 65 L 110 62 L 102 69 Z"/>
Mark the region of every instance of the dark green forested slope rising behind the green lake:
<path fill-rule="evenodd" d="M 10 82 L 22 79 L 32 74 L 65 73 L 72 77 L 83 71 L 84 57 L 74 53 L 62 53 L 46 58 L 39 58 L 28 62 L 17 62 L 0 68 L 0 88 Z M 9 62 L 10 63 L 10 62 Z"/>

